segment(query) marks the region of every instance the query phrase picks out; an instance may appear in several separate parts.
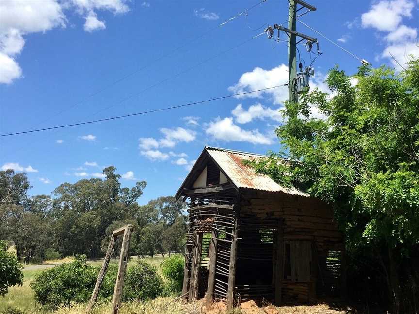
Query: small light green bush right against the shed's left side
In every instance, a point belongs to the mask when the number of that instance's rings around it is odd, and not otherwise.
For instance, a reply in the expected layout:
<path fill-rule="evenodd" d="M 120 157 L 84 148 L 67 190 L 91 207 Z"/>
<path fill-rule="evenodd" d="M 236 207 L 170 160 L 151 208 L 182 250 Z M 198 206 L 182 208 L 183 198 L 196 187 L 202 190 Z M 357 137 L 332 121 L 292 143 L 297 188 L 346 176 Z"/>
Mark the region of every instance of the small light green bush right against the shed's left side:
<path fill-rule="evenodd" d="M 161 263 L 162 273 L 166 279 L 166 291 L 179 294 L 182 291 L 184 257 L 173 255 Z"/>

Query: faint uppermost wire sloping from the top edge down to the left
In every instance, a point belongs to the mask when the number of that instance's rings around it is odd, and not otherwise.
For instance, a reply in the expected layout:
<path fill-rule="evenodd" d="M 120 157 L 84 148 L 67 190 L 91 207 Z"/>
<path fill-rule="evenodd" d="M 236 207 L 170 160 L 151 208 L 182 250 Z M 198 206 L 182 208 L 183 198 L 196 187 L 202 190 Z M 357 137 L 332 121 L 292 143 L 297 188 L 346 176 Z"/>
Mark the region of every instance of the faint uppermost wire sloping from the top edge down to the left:
<path fill-rule="evenodd" d="M 217 30 L 217 29 L 219 29 L 219 28 L 223 27 L 223 26 L 224 26 L 224 25 L 226 25 L 227 23 L 231 22 L 232 20 L 236 19 L 237 17 L 241 16 L 242 14 L 249 12 L 250 10 L 254 9 L 254 8 L 255 8 L 255 7 L 257 7 L 258 5 L 260 5 L 260 4 L 262 4 L 263 2 L 266 2 L 266 1 L 267 1 L 267 0 L 260 0 L 258 3 L 256 3 L 256 4 L 254 4 L 253 6 L 251 6 L 251 7 L 247 8 L 247 9 L 245 9 L 244 11 L 240 12 L 239 14 L 236 14 L 235 16 L 232 16 L 231 18 L 227 19 L 227 20 L 226 20 L 226 21 L 224 21 L 223 23 L 218 24 L 216 27 L 213 27 L 213 28 L 211 28 L 211 29 L 210 29 L 210 30 L 208 30 L 208 31 L 205 31 L 205 32 L 200 33 L 198 36 L 195 36 L 195 37 L 193 37 L 192 39 L 190 39 L 190 40 L 188 40 L 188 41 L 184 42 L 182 45 L 178 46 L 177 48 L 172 49 L 171 51 L 169 51 L 168 53 L 166 53 L 166 54 L 162 55 L 161 57 L 158 57 L 158 58 L 156 58 L 156 59 L 153 59 L 151 62 L 149 62 L 149 63 L 145 64 L 144 66 L 142 66 L 142 67 L 140 67 L 140 68 L 138 68 L 138 69 L 136 69 L 136 70 L 134 70 L 134 71 L 132 71 L 132 72 L 130 72 L 130 73 L 128 73 L 128 74 L 126 74 L 126 75 L 124 75 L 124 76 L 123 76 L 123 77 L 121 77 L 121 78 L 118 78 L 118 79 L 114 80 L 113 82 L 111 82 L 111 83 L 109 83 L 109 84 L 107 84 L 107 85 L 103 86 L 102 88 L 99 88 L 97 91 L 95 91 L 95 92 L 93 92 L 93 93 L 91 93 L 91 94 L 88 94 L 88 95 L 87 95 L 84 99 L 82 99 L 81 101 L 78 101 L 78 102 L 74 103 L 74 104 L 73 104 L 73 105 L 71 105 L 70 107 L 66 107 L 66 108 L 64 108 L 64 109 L 63 109 L 63 110 L 61 110 L 60 112 L 58 112 L 58 113 L 56 113 L 56 114 L 54 114 L 54 115 L 50 116 L 49 118 L 47 118 L 47 119 L 45 119 L 45 120 L 41 121 L 40 123 L 38 123 L 38 124 L 36 124 L 36 125 L 34 125 L 34 126 L 39 126 L 40 124 L 43 124 L 44 122 L 47 122 L 47 121 L 49 121 L 50 119 L 55 118 L 55 117 L 57 117 L 57 116 L 61 115 L 62 113 L 66 112 L 66 111 L 68 111 L 68 110 L 73 109 L 74 107 L 76 107 L 76 106 L 78 106 L 78 105 L 82 104 L 83 102 L 85 102 L 87 99 L 92 98 L 92 97 L 96 96 L 97 94 L 100 94 L 100 93 L 102 93 L 102 92 L 106 91 L 108 88 L 112 87 L 113 85 L 116 85 L 116 84 L 118 84 L 118 83 L 122 82 L 123 80 L 125 80 L 125 79 L 127 79 L 127 78 L 129 78 L 129 77 L 133 76 L 134 74 L 136 74 L 136 73 L 138 73 L 138 72 L 140 72 L 140 71 L 144 70 L 145 68 L 149 67 L 150 65 L 152 65 L 152 64 L 154 64 L 154 63 L 157 63 L 157 62 L 159 62 L 159 61 L 161 61 L 161 60 L 163 60 L 163 59 L 165 59 L 165 58 L 167 58 L 167 57 L 169 57 L 169 56 L 173 55 L 175 52 L 177 52 L 178 50 L 182 49 L 183 47 L 188 46 L 189 44 L 191 44 L 191 43 L 195 42 L 196 40 L 198 40 L 198 39 L 200 39 L 200 38 L 202 38 L 202 37 L 204 37 L 205 35 L 209 34 L 210 32 L 215 31 L 215 30 Z M 34 126 L 33 126 L 33 127 L 34 127 Z"/>

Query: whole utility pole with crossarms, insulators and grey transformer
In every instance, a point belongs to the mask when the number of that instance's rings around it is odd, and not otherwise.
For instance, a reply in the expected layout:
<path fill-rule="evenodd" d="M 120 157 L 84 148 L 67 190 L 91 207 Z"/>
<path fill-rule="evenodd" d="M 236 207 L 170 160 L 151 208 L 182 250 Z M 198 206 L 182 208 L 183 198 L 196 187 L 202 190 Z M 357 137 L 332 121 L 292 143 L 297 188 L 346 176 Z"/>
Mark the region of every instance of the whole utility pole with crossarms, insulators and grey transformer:
<path fill-rule="evenodd" d="M 306 68 L 303 72 L 301 64 L 299 64 L 300 73 L 297 74 L 297 45 L 301 41 L 307 40 L 307 50 L 311 51 L 311 48 L 315 43 L 317 44 L 317 51 L 319 53 L 319 42 L 316 38 L 296 31 L 296 23 L 298 17 L 297 12 L 303 8 L 308 9 L 308 11 L 299 15 L 302 16 L 310 11 L 316 11 L 317 9 L 314 6 L 304 2 L 303 0 L 288 0 L 288 2 L 288 28 L 279 24 L 274 24 L 273 27 L 268 26 L 265 32 L 268 34 L 268 38 L 273 37 L 274 29 L 278 30 L 278 37 L 279 31 L 284 31 L 288 36 L 288 101 L 296 103 L 298 102 L 298 93 L 309 87 L 308 78 L 310 75 L 314 74 L 310 68 Z M 297 5 L 301 5 L 301 7 L 297 9 Z M 301 38 L 298 42 L 297 37 Z"/>

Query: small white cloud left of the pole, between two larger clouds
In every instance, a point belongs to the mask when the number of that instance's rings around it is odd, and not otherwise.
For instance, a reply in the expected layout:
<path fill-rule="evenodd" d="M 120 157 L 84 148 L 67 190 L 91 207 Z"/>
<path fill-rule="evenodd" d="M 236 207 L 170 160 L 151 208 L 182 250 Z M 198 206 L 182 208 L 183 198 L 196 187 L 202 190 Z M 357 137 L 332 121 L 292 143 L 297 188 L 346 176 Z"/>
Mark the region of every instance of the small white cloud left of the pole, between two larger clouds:
<path fill-rule="evenodd" d="M 251 122 L 254 119 L 264 120 L 265 118 L 282 121 L 281 113 L 279 110 L 272 110 L 269 107 L 262 106 L 257 103 L 251 105 L 247 110 L 244 110 L 242 104 L 238 104 L 231 113 L 235 117 L 237 123 L 244 124 Z"/>

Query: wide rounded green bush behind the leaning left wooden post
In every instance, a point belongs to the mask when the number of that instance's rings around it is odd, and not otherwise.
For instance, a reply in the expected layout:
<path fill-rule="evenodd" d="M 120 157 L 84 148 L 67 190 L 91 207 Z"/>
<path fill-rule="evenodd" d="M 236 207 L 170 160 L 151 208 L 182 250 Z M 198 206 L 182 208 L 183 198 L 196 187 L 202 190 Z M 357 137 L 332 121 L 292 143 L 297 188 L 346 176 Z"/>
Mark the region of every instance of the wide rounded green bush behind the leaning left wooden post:
<path fill-rule="evenodd" d="M 68 306 L 71 302 L 86 302 L 92 295 L 99 270 L 99 267 L 86 264 L 85 256 L 78 256 L 74 262 L 45 270 L 36 275 L 31 283 L 35 300 L 52 308 Z M 109 265 L 99 299 L 112 297 L 116 273 L 117 267 Z"/>

